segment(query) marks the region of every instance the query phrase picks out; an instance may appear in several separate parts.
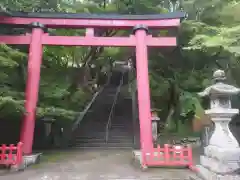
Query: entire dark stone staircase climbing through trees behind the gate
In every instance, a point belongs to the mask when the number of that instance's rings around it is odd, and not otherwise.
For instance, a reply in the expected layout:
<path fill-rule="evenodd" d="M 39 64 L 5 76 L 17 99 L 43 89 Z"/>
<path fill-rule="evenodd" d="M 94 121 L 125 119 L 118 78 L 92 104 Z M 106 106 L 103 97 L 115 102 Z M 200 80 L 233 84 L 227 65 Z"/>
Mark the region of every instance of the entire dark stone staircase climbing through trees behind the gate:
<path fill-rule="evenodd" d="M 119 76 L 121 74 L 118 74 Z M 117 80 L 119 81 L 117 83 Z M 133 123 L 131 116 L 131 100 L 125 101 L 119 97 L 111 127 L 109 127 L 108 141 L 106 142 L 106 125 L 109 113 L 117 92 L 121 77 L 117 74 L 110 80 L 110 84 L 102 93 L 84 117 L 79 128 L 74 132 L 72 147 L 75 148 L 132 148 Z M 112 82 L 111 82 L 112 81 Z"/>

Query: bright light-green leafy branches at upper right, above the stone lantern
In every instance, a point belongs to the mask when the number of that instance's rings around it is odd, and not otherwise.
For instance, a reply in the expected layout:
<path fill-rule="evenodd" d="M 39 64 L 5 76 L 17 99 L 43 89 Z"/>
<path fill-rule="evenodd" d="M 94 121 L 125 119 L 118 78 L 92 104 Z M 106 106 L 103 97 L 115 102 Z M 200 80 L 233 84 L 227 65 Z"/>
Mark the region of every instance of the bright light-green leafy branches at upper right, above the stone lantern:
<path fill-rule="evenodd" d="M 209 53 L 221 48 L 222 52 L 239 56 L 240 26 L 236 15 L 240 10 L 240 3 L 216 0 L 199 4 L 203 8 L 200 21 L 184 24 L 183 32 L 191 34 L 191 39 L 185 49 Z M 219 23 L 216 24 L 214 21 Z"/>

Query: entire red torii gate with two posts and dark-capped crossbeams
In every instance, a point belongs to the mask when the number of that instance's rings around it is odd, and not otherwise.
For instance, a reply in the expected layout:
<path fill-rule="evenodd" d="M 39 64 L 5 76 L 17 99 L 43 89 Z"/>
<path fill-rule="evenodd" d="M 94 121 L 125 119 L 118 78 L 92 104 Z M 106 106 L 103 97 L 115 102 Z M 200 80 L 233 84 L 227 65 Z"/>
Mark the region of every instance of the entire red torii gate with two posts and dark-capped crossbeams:
<path fill-rule="evenodd" d="M 0 36 L 0 43 L 29 44 L 28 79 L 26 87 L 26 114 L 21 129 L 21 142 L 25 155 L 32 153 L 35 111 L 38 101 L 40 67 L 43 45 L 62 46 L 121 46 L 136 47 L 137 89 L 140 120 L 141 151 L 153 148 L 150 93 L 148 78 L 148 47 L 177 45 L 176 37 L 152 37 L 149 29 L 166 29 L 180 26 L 184 12 L 160 15 L 90 15 L 64 13 L 21 13 L 0 16 L 1 25 L 31 27 L 26 35 Z M 86 28 L 86 35 L 50 36 L 47 28 Z M 96 37 L 94 28 L 133 29 L 129 37 Z"/>

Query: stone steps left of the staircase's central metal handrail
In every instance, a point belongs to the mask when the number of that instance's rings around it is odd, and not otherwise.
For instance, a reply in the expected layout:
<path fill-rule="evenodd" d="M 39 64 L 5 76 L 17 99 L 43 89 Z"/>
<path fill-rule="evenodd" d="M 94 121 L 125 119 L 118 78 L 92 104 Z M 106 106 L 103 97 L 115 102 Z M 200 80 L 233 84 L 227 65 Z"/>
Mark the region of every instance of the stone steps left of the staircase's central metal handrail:
<path fill-rule="evenodd" d="M 105 87 L 74 132 L 73 146 L 100 147 L 105 144 L 106 123 L 117 87 Z"/>

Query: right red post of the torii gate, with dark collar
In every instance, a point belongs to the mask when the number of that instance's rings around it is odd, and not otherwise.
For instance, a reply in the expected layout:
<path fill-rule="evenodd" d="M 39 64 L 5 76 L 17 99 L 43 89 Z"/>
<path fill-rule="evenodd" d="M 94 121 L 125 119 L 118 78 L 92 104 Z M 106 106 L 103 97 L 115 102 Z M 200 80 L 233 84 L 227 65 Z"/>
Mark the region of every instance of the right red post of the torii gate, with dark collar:
<path fill-rule="evenodd" d="M 145 157 L 145 153 L 150 153 L 151 149 L 153 148 L 148 79 L 148 52 L 146 44 L 147 31 L 148 29 L 144 26 L 134 28 L 136 37 L 136 69 L 140 141 L 143 157 Z"/>

